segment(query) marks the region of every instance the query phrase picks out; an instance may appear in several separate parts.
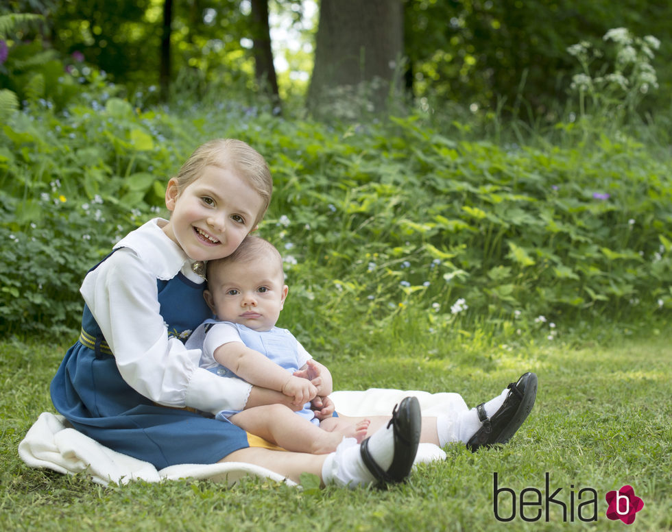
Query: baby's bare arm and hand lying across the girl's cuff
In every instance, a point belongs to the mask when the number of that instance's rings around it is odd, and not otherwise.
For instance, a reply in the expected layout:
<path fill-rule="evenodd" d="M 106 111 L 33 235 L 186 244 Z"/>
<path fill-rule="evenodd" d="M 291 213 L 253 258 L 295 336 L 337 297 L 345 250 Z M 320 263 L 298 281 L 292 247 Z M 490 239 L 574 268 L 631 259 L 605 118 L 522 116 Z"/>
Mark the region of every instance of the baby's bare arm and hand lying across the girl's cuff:
<path fill-rule="evenodd" d="M 231 341 L 215 349 L 214 358 L 217 363 L 228 367 L 248 383 L 281 391 L 293 397 L 296 405 L 304 404 L 315 398 L 317 389 L 310 380 L 293 376 L 282 367 L 267 359 L 254 349 L 239 341 Z"/>

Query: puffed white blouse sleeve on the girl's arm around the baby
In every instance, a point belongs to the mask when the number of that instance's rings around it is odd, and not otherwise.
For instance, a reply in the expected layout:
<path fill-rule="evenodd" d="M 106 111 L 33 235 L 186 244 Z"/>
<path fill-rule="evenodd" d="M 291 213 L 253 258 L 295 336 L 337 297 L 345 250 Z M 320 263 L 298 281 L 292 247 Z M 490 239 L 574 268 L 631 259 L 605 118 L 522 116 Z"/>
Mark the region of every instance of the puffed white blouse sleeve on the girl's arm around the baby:
<path fill-rule="evenodd" d="M 179 339 L 169 339 L 156 276 L 132 250 L 115 252 L 91 271 L 81 292 L 130 387 L 169 407 L 213 414 L 245 407 L 248 383 L 200 368 L 200 349 L 189 350 Z"/>

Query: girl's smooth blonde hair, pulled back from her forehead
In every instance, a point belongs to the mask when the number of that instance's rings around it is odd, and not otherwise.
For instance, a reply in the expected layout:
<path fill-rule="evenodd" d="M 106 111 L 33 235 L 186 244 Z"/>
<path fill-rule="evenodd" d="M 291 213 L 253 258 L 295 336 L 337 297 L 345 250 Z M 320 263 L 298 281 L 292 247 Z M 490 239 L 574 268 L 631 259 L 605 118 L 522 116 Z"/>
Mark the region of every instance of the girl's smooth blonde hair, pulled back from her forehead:
<path fill-rule="evenodd" d="M 208 166 L 230 168 L 252 185 L 263 200 L 261 212 L 254 225 L 259 223 L 271 203 L 273 193 L 273 178 L 263 156 L 247 143 L 235 138 L 208 141 L 195 149 L 175 176 L 178 193 L 199 178 Z"/>

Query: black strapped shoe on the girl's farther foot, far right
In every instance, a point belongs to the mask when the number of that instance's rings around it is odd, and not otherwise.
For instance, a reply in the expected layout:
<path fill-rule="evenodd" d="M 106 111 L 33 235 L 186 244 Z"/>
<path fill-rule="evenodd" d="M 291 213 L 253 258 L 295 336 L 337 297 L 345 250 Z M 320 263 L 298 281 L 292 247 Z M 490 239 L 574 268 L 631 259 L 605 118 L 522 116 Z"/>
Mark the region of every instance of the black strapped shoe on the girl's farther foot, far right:
<path fill-rule="evenodd" d="M 488 418 L 483 403 L 476 407 L 482 426 L 467 442 L 470 451 L 476 452 L 481 447 L 493 444 L 505 444 L 531 412 L 537 396 L 537 376 L 527 372 L 517 383 L 511 383 L 507 388 L 509 395 L 492 418 Z"/>

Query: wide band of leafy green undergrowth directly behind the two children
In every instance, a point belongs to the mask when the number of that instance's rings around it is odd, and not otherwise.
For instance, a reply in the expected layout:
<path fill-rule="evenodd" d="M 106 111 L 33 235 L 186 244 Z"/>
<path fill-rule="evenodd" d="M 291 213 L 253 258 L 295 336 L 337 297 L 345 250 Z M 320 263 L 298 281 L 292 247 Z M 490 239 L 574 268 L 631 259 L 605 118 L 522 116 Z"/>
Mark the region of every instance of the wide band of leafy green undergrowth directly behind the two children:
<path fill-rule="evenodd" d="M 475 138 L 483 124 L 412 114 L 327 126 L 237 101 L 143 111 L 106 84 L 83 95 L 63 112 L 10 106 L 0 129 L 10 329 L 76 327 L 84 273 L 219 136 L 248 141 L 274 172 L 260 232 L 285 254 L 283 319 L 314 347 L 351 350 L 344 326 L 385 342 L 388 324 L 524 330 L 672 304 L 669 152 L 640 140 L 656 126 L 580 120 L 502 143 Z M 27 256 L 32 269 L 16 267 Z"/>

